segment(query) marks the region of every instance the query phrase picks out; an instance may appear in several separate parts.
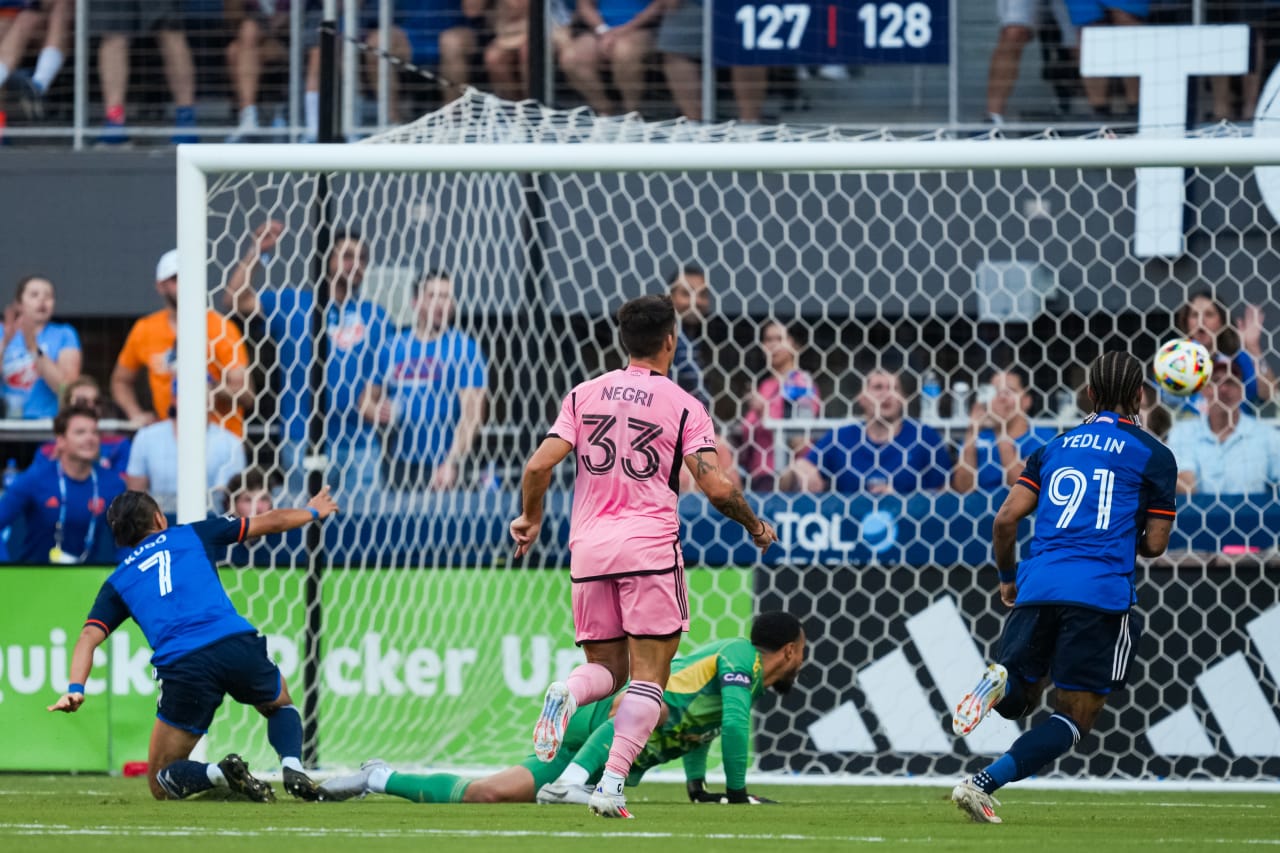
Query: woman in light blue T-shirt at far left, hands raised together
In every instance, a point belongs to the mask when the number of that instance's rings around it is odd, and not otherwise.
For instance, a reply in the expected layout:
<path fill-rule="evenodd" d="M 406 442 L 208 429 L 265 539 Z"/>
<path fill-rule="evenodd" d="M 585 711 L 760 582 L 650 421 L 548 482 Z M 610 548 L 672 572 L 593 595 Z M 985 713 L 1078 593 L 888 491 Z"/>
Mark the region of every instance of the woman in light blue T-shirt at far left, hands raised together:
<path fill-rule="evenodd" d="M 59 389 L 79 375 L 79 336 L 65 323 L 50 321 L 54 306 L 54 283 L 27 275 L 4 310 L 0 350 L 6 418 L 52 418 Z"/>

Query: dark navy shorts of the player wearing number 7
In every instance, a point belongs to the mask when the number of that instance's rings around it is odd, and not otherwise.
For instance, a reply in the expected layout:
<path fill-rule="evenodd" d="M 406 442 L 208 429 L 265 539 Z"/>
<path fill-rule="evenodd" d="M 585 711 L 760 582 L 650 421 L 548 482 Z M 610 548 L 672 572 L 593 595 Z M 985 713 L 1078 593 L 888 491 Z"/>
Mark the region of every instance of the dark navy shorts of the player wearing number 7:
<path fill-rule="evenodd" d="M 280 669 L 261 634 L 232 634 L 173 663 L 156 667 L 156 717 L 174 729 L 205 734 L 223 697 L 262 704 L 280 695 Z"/>

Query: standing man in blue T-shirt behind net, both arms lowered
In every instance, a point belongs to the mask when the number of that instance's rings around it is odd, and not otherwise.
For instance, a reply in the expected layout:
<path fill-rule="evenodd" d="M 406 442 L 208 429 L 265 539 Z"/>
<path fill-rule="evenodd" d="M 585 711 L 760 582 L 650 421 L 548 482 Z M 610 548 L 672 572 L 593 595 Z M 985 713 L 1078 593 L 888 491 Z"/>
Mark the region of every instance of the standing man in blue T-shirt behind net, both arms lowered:
<path fill-rule="evenodd" d="M 453 277 L 419 279 L 413 325 L 378 359 L 360 410 L 384 434 L 384 479 L 401 489 L 448 489 L 484 424 L 488 364 L 480 343 L 453 328 Z"/>

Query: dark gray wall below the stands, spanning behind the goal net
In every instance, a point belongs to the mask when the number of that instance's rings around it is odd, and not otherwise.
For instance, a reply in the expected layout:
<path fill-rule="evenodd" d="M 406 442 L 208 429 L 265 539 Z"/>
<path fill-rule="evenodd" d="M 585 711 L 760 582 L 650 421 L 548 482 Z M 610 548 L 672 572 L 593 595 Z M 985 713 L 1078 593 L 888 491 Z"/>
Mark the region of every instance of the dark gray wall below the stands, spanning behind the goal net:
<path fill-rule="evenodd" d="M 1132 174 L 543 178 L 540 287 L 553 313 L 599 315 L 692 261 L 723 283 L 730 315 L 973 315 L 978 265 L 1023 260 L 1052 273 L 1051 310 L 1171 310 L 1198 283 L 1228 302 L 1274 298 L 1280 245 L 1252 173 L 1188 177 L 1187 252 L 1174 261 L 1132 255 Z M 346 178 L 335 191 L 337 219 L 361 228 L 375 265 L 448 266 L 467 310 L 518 311 L 518 179 Z M 214 197 L 212 287 L 266 216 L 291 232 L 269 280 L 310 277 L 311 179 L 233 179 Z M 44 272 L 60 315 L 155 310 L 155 261 L 175 240 L 172 151 L 5 152 L 0 202 L 0 300 Z"/>

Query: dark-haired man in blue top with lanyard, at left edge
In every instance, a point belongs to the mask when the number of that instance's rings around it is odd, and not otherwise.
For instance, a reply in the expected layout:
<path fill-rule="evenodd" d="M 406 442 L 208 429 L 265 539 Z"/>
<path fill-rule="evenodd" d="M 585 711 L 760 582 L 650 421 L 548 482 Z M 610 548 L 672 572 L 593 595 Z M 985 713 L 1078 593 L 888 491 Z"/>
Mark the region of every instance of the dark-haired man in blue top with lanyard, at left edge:
<path fill-rule="evenodd" d="M 113 562 L 105 514 L 124 480 L 99 459 L 97 412 L 64 409 L 54 418 L 54 434 L 56 459 L 37 455 L 0 497 L 0 529 L 18 520 L 26 528 L 9 551 L 28 565 Z"/>

